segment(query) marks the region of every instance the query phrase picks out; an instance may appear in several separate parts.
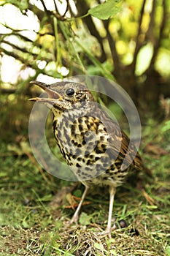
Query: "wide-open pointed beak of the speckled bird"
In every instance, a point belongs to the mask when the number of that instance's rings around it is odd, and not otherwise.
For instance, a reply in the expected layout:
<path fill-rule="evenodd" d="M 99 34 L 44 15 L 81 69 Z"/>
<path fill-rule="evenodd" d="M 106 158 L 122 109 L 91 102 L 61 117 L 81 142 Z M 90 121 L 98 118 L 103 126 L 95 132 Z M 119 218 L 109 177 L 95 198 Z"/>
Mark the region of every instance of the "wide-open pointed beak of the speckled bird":
<path fill-rule="evenodd" d="M 48 98 L 31 98 L 28 100 L 34 101 L 34 102 L 48 102 L 50 104 L 54 104 L 55 99 L 62 99 L 61 95 L 58 94 L 56 91 L 53 91 L 49 89 L 49 86 L 45 83 L 39 82 L 39 81 L 31 81 L 30 83 L 35 84 L 36 86 L 39 86 L 44 91 L 47 92 Z"/>

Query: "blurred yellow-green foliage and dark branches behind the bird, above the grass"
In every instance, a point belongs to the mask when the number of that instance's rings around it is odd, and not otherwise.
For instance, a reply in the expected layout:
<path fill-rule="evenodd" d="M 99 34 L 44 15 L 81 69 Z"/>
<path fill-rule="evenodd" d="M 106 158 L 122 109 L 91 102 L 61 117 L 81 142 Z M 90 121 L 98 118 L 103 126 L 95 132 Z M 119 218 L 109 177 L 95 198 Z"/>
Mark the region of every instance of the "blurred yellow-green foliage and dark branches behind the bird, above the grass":
<path fill-rule="evenodd" d="M 1 0 L 1 139 L 27 135 L 35 79 L 101 75 L 142 117 L 168 118 L 169 15 L 169 0 Z"/>

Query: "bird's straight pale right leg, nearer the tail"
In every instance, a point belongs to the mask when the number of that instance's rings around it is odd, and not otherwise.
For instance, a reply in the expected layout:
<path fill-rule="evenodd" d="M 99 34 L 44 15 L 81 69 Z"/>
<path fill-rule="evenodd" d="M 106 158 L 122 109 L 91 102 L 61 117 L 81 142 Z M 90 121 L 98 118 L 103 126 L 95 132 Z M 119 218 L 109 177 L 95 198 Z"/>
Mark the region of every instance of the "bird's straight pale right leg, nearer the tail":
<path fill-rule="evenodd" d="M 112 210 L 113 210 L 113 203 L 115 198 L 116 188 L 115 187 L 109 187 L 109 216 L 107 221 L 107 229 L 106 233 L 108 233 L 109 238 L 112 238 L 111 236 L 111 229 L 112 229 Z"/>

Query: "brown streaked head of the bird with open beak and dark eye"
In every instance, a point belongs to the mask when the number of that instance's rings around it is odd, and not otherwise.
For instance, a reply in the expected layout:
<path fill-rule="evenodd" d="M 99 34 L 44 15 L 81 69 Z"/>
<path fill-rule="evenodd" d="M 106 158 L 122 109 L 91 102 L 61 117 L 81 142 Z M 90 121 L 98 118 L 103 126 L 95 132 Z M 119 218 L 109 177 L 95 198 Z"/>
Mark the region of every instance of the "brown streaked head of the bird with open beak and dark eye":
<path fill-rule="evenodd" d="M 36 97 L 29 99 L 35 102 L 45 102 L 47 107 L 59 110 L 68 110 L 75 106 L 81 108 L 82 103 L 94 101 L 88 87 L 80 83 L 58 82 L 47 85 L 38 81 L 31 81 L 47 92 L 47 98 Z"/>

